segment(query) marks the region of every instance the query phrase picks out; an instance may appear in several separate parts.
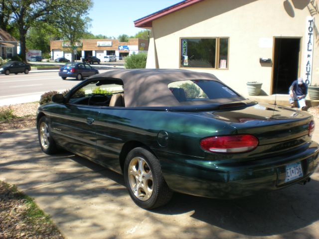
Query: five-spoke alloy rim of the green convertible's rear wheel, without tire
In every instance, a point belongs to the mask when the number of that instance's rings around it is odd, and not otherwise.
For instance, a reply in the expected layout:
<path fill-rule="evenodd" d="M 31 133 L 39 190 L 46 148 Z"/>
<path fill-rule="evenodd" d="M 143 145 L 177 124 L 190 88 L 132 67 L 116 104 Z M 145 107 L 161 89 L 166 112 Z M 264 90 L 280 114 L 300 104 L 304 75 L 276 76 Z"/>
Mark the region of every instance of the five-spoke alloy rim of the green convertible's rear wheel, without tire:
<path fill-rule="evenodd" d="M 148 163 L 142 157 L 131 160 L 128 168 L 128 178 L 134 195 L 142 200 L 148 200 L 153 193 L 153 176 Z"/>

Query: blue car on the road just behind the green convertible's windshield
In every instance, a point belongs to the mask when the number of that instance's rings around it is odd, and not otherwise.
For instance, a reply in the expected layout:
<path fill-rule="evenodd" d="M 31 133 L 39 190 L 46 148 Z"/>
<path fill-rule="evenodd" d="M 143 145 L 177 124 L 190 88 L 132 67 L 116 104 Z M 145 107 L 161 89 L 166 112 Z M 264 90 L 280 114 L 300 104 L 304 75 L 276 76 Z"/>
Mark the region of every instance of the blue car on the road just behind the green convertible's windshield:
<path fill-rule="evenodd" d="M 99 71 L 86 63 L 71 62 L 60 68 L 59 76 L 65 80 L 67 77 L 81 81 L 85 77 L 99 74 Z"/>

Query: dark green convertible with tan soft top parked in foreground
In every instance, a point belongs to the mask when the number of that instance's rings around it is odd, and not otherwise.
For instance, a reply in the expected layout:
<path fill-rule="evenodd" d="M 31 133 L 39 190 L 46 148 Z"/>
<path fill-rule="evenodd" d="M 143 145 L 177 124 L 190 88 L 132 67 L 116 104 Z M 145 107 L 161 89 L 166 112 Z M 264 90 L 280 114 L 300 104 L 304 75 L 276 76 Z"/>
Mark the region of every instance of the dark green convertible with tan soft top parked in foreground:
<path fill-rule="evenodd" d="M 38 109 L 42 151 L 124 174 L 146 209 L 173 191 L 228 199 L 309 182 L 319 163 L 312 115 L 247 100 L 208 73 L 113 70 L 52 101 Z"/>

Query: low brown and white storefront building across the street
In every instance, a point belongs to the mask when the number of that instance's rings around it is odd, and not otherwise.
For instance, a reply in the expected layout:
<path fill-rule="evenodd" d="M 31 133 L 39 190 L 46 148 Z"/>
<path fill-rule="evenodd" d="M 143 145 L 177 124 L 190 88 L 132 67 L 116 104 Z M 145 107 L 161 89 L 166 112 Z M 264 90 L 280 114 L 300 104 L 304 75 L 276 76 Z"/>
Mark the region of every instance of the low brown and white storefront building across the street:
<path fill-rule="evenodd" d="M 50 48 L 51 59 L 65 57 L 71 60 L 72 47 L 68 43 L 62 40 L 51 41 Z M 81 57 L 96 56 L 103 62 L 107 55 L 115 55 L 117 59 L 121 59 L 140 52 L 147 53 L 149 41 L 137 38 L 131 38 L 128 42 L 119 42 L 118 39 L 83 39 L 73 49 L 75 49 L 77 60 Z"/>

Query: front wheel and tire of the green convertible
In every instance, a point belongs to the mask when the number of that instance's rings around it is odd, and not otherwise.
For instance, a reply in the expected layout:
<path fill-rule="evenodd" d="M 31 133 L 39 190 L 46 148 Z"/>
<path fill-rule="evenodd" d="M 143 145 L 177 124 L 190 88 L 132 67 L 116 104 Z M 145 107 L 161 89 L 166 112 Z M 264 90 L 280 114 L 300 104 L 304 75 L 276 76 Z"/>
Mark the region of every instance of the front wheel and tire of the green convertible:
<path fill-rule="evenodd" d="M 48 120 L 43 116 L 38 123 L 38 139 L 41 150 L 46 154 L 54 154 L 57 152 L 57 147 L 52 138 L 51 132 L 48 126 Z"/>

